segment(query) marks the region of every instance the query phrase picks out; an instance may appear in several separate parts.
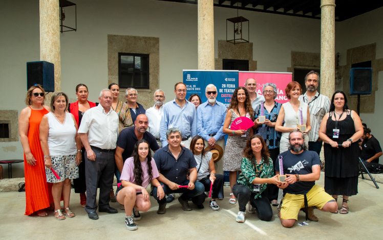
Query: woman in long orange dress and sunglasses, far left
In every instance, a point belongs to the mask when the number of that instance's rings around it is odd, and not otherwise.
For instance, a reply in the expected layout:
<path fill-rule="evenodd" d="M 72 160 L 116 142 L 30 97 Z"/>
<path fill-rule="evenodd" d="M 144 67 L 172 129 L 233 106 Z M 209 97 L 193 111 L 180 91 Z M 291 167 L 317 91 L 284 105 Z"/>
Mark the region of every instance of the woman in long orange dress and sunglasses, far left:
<path fill-rule="evenodd" d="M 52 184 L 46 180 L 44 154 L 40 146 L 40 122 L 50 110 L 44 106 L 44 100 L 44 88 L 40 85 L 30 87 L 25 99 L 28 107 L 20 112 L 18 118 L 18 132 L 24 150 L 25 214 L 36 212 L 40 217 L 48 216 L 47 208 L 53 202 Z"/>

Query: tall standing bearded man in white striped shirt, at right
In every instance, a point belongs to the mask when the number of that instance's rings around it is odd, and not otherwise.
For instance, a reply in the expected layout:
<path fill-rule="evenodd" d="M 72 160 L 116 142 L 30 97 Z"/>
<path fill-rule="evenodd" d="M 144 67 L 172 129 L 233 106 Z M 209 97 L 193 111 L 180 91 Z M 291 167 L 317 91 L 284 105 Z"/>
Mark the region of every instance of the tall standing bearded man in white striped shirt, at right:
<path fill-rule="evenodd" d="M 322 140 L 319 138 L 319 127 L 323 116 L 330 109 L 329 98 L 320 94 L 316 90 L 319 81 L 319 74 L 316 71 L 310 71 L 305 77 L 307 91 L 299 97 L 299 101 L 303 101 L 309 105 L 311 124 L 311 131 L 308 132 L 309 150 L 315 151 L 318 155 L 321 153 L 322 149 Z"/>

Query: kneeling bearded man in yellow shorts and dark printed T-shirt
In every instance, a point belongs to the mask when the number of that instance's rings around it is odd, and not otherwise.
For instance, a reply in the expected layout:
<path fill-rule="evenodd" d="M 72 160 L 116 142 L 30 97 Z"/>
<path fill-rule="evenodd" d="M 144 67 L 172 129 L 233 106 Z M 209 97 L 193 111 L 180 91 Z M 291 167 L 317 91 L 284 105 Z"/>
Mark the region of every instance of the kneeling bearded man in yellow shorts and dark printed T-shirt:
<path fill-rule="evenodd" d="M 282 158 L 286 182 L 278 185 L 283 189 L 284 198 L 279 208 L 279 217 L 284 227 L 292 227 L 298 220 L 298 213 L 304 207 L 306 219 L 318 221 L 313 214 L 313 206 L 322 210 L 335 212 L 338 208 L 335 200 L 325 192 L 323 187 L 315 185 L 321 174 L 320 159 L 314 151 L 307 151 L 303 133 L 294 130 L 289 134 L 290 147 L 278 156 L 275 173 L 280 174 Z"/>

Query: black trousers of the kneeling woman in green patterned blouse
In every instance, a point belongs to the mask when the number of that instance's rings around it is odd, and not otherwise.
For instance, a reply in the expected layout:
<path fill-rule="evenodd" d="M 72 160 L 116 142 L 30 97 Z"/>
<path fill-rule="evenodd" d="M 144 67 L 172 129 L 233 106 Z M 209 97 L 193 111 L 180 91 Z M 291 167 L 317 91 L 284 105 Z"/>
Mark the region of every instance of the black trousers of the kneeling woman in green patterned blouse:
<path fill-rule="evenodd" d="M 266 191 L 263 191 L 261 198 L 254 199 L 255 194 L 245 185 L 236 184 L 233 186 L 233 194 L 238 199 L 240 211 L 246 211 L 246 204 L 250 200 L 251 206 L 256 208 L 258 217 L 262 221 L 270 221 L 272 218 L 272 209 Z"/>

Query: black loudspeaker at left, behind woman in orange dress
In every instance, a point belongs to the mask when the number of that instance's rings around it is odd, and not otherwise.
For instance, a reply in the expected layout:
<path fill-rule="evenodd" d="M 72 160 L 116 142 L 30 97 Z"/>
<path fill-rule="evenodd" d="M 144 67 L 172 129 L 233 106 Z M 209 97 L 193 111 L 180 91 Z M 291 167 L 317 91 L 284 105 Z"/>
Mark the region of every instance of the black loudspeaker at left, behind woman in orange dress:
<path fill-rule="evenodd" d="M 54 92 L 54 64 L 46 61 L 27 62 L 27 89 L 35 84 Z"/>

